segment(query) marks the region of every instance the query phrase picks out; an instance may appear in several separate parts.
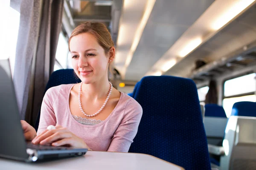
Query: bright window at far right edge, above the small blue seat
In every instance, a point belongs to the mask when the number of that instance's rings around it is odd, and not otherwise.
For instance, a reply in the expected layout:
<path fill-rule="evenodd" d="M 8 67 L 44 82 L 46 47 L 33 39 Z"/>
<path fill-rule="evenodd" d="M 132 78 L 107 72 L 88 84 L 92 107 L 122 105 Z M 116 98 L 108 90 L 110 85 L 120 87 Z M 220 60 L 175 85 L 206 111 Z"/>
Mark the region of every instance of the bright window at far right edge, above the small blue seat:
<path fill-rule="evenodd" d="M 224 82 L 223 108 L 230 116 L 234 103 L 241 101 L 256 102 L 256 74 L 229 79 Z"/>

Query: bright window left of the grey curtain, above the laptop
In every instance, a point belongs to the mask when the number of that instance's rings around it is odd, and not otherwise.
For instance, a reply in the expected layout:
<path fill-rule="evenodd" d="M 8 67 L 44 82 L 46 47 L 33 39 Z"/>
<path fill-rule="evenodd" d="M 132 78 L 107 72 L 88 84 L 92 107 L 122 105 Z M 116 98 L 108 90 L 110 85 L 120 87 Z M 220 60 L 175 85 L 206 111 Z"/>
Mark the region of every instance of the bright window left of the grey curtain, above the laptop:
<path fill-rule="evenodd" d="M 20 13 L 10 7 L 10 0 L 0 2 L 0 23 L 0 59 L 9 58 L 13 75 Z"/>

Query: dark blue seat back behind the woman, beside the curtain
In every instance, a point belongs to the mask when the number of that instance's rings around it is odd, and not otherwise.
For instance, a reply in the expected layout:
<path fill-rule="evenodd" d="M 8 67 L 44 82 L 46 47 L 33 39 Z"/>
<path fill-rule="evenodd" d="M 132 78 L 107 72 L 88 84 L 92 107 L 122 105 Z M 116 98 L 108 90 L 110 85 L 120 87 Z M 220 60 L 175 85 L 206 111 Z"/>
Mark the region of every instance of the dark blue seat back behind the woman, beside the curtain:
<path fill-rule="evenodd" d="M 45 92 L 54 86 L 63 85 L 63 84 L 73 84 L 79 83 L 81 80 L 76 76 L 76 73 L 73 69 L 61 69 L 54 71 L 47 82 Z M 40 111 L 38 113 L 36 122 L 35 122 L 35 130 L 38 130 L 40 120 Z"/>

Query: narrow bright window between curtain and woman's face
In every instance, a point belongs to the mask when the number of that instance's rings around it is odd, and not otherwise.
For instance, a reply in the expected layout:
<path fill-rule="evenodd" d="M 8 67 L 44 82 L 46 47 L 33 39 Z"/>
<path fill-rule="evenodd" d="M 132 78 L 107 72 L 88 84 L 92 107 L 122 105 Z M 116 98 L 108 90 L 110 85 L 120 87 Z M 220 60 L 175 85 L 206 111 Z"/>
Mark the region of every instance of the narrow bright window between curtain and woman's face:
<path fill-rule="evenodd" d="M 64 36 L 64 34 L 61 32 L 59 39 L 58 39 L 58 46 L 56 50 L 56 56 L 55 56 L 55 65 L 54 65 L 54 71 L 67 68 L 67 56 L 68 56 L 68 42 L 67 38 Z"/>

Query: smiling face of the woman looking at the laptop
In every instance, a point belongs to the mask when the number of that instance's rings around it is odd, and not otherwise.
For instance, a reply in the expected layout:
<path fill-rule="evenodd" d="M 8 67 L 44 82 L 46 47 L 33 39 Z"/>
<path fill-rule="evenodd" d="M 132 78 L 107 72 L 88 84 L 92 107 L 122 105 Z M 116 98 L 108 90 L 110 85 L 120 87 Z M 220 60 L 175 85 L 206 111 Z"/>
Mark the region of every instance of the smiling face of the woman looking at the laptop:
<path fill-rule="evenodd" d="M 84 84 L 99 81 L 108 76 L 109 57 L 90 33 L 78 34 L 70 40 L 72 65 Z"/>

